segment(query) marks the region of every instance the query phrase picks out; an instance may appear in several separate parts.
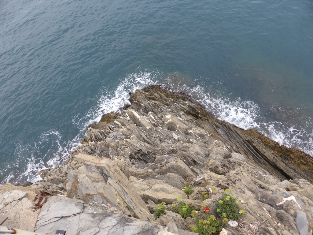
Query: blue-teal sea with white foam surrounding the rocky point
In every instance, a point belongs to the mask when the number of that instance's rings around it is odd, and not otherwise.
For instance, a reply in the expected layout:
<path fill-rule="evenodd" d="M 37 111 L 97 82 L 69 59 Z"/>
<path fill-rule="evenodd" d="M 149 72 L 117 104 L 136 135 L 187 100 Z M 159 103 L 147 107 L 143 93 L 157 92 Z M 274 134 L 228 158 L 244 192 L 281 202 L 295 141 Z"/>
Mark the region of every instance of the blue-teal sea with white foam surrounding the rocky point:
<path fill-rule="evenodd" d="M 0 182 L 38 180 L 164 82 L 312 155 L 312 23 L 312 0 L 1 1 Z"/>

